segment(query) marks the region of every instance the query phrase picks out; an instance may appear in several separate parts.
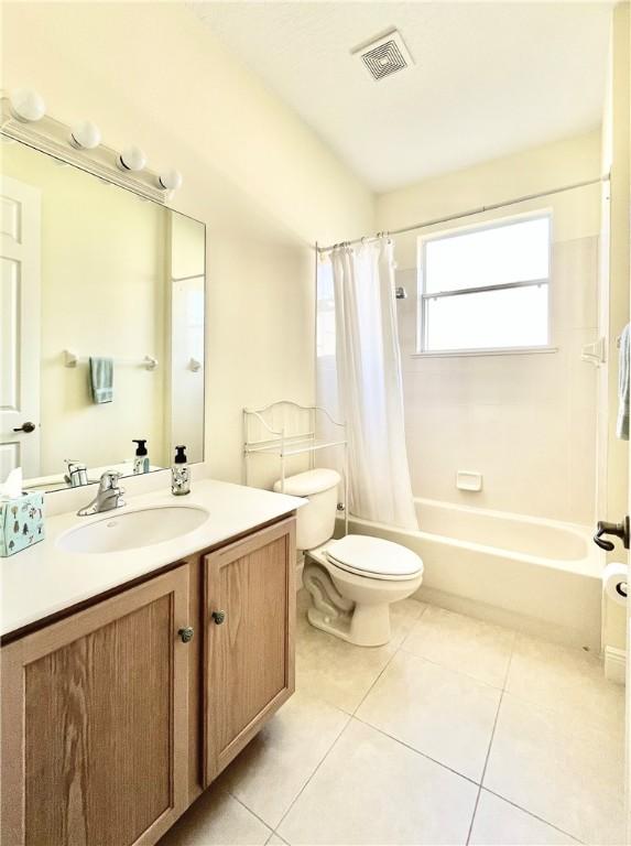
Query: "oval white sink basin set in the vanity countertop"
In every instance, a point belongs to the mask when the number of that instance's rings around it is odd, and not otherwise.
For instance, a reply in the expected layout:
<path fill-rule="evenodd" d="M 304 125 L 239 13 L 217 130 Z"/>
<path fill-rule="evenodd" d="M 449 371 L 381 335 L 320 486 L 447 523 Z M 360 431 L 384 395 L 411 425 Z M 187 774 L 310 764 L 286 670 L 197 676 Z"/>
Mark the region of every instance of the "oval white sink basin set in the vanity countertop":
<path fill-rule="evenodd" d="M 199 529 L 209 513 L 197 506 L 157 506 L 138 511 L 105 513 L 100 520 L 77 525 L 57 538 L 65 552 L 104 553 L 153 546 Z"/>

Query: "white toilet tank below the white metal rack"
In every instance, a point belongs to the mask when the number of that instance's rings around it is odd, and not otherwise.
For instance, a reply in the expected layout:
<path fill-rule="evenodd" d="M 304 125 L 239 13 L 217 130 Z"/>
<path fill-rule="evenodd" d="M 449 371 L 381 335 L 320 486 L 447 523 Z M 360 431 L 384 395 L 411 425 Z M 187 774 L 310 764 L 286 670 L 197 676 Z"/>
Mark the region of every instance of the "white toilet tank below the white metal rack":
<path fill-rule="evenodd" d="M 274 482 L 276 492 L 282 490 L 283 494 L 292 497 L 308 499 L 308 505 L 297 510 L 296 546 L 298 550 L 313 550 L 333 538 L 339 482 L 339 473 L 324 467 L 287 476 L 284 489 L 280 479 Z"/>

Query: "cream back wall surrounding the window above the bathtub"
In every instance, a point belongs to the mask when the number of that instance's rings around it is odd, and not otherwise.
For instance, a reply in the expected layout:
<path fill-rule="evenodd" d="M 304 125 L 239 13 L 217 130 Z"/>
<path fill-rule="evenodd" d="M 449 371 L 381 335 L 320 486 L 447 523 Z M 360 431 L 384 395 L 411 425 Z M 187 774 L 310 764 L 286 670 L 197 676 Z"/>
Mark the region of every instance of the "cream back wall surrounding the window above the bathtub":
<path fill-rule="evenodd" d="M 378 226 L 391 230 L 599 173 L 595 131 L 385 194 L 378 202 Z M 597 336 L 599 187 L 465 224 L 535 209 L 553 213 L 553 354 L 414 357 L 417 232 L 395 238 L 398 280 L 410 294 L 399 303 L 399 315 L 413 489 L 432 499 L 590 523 L 596 369 L 580 360 L 580 350 Z M 458 490 L 459 469 L 481 473 L 482 491 Z"/>

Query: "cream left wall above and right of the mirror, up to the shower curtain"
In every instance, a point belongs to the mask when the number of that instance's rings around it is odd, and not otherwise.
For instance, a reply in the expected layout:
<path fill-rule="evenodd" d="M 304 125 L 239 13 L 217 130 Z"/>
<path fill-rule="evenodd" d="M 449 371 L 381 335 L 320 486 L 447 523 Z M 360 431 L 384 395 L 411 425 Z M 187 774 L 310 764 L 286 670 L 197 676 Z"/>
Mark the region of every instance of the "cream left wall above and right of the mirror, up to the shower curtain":
<path fill-rule="evenodd" d="M 314 399 L 311 247 L 373 229 L 371 193 L 184 3 L 6 3 L 2 17 L 7 88 L 182 170 L 176 206 L 208 224 L 207 458 L 238 480 L 241 405 Z"/>

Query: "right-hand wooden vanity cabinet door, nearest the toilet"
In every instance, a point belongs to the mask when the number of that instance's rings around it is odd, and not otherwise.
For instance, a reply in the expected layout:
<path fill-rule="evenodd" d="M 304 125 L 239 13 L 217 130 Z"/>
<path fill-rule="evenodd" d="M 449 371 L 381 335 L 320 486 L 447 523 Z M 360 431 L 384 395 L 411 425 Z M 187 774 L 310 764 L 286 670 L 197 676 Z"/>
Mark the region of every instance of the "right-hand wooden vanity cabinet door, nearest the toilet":
<path fill-rule="evenodd" d="M 207 555 L 204 783 L 294 692 L 295 520 Z"/>

